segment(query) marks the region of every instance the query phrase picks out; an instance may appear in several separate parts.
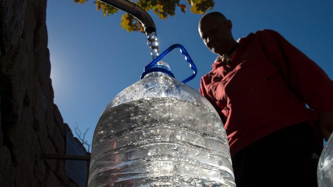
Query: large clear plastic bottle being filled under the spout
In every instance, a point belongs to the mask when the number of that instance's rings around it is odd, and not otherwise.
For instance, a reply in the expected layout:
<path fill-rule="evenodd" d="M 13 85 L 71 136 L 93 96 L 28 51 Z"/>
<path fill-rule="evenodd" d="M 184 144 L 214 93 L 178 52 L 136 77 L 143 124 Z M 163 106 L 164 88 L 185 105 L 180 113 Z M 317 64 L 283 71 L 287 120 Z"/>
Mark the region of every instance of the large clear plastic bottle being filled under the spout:
<path fill-rule="evenodd" d="M 168 64 L 155 67 L 164 70 L 121 91 L 100 116 L 88 185 L 236 186 L 214 107 L 165 73 Z"/>

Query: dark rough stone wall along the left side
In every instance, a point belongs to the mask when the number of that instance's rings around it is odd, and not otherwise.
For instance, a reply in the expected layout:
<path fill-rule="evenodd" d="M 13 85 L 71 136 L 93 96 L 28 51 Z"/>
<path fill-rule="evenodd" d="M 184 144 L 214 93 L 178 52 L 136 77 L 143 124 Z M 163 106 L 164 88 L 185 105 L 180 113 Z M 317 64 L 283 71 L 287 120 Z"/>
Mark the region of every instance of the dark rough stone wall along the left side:
<path fill-rule="evenodd" d="M 43 0 L 0 1 L 0 186 L 76 186 L 65 175 L 71 133 L 53 103 Z"/>

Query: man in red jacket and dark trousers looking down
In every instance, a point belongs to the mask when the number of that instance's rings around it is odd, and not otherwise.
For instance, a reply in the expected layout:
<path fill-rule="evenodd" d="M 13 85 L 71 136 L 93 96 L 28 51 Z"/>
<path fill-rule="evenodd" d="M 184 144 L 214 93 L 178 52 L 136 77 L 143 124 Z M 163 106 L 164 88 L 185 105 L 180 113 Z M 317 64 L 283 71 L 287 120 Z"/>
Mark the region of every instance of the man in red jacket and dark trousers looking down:
<path fill-rule="evenodd" d="M 231 30 L 219 12 L 200 19 L 202 40 L 218 55 L 200 92 L 224 123 L 237 186 L 317 186 L 322 137 L 333 129 L 333 82 L 279 33 L 237 42 Z"/>

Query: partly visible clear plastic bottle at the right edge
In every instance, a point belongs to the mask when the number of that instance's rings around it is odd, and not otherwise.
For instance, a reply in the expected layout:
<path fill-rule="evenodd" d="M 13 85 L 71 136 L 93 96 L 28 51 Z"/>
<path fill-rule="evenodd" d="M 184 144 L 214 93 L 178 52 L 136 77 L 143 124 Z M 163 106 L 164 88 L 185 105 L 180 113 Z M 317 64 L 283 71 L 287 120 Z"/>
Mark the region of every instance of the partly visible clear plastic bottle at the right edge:
<path fill-rule="evenodd" d="M 333 133 L 330 135 L 326 147 L 320 155 L 317 180 L 319 187 L 333 186 Z"/>

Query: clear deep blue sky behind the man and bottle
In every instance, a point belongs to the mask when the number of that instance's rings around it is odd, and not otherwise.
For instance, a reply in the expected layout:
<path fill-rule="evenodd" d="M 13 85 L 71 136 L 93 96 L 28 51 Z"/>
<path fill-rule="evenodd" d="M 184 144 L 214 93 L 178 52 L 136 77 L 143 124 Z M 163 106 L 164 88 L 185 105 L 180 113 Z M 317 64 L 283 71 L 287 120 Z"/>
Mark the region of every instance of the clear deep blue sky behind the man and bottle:
<path fill-rule="evenodd" d="M 185 3 L 185 0 L 181 0 Z M 262 29 L 273 29 L 313 59 L 333 78 L 333 1 L 224 1 L 215 0 L 212 11 L 222 12 L 233 21 L 235 39 Z M 210 12 L 210 11 L 209 11 Z M 188 84 L 199 89 L 200 77 L 210 70 L 216 56 L 206 49 L 198 34 L 202 15 L 178 9 L 166 20 L 155 20 L 160 51 L 174 43 L 185 46 L 198 68 Z M 54 103 L 74 133 L 90 128 L 91 143 L 95 125 L 106 105 L 124 88 L 139 80 L 143 67 L 151 61 L 147 37 L 120 27 L 123 13 L 103 17 L 93 0 L 85 5 L 72 0 L 49 0 L 47 28 L 51 59 Z M 178 50 L 163 58 L 177 79 L 191 75 Z"/>

